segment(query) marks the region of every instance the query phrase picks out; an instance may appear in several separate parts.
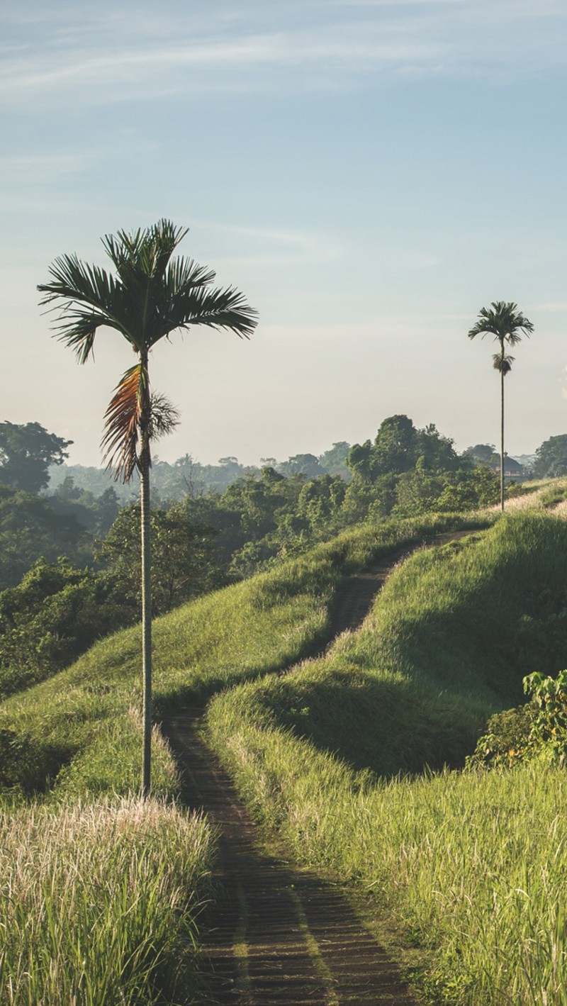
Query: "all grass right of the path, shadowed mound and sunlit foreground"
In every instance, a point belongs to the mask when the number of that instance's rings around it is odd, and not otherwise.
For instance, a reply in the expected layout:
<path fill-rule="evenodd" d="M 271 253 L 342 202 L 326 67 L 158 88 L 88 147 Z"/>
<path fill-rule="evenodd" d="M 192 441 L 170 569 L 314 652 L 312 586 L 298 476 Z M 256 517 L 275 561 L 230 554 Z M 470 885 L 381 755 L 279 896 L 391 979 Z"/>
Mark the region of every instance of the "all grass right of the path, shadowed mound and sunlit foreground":
<path fill-rule="evenodd" d="M 567 1003 L 561 771 L 394 775 L 458 763 L 525 674 L 563 666 L 566 565 L 565 522 L 507 517 L 410 557 L 326 659 L 208 708 L 209 738 L 256 818 L 430 948 L 435 1001 Z"/>

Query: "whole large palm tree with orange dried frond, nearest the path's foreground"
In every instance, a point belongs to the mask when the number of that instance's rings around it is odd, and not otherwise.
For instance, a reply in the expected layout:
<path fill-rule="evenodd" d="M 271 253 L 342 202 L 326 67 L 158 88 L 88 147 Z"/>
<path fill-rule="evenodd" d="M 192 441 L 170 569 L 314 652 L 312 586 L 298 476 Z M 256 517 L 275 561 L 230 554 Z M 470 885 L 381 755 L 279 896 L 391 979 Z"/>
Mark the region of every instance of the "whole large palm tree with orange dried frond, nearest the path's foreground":
<path fill-rule="evenodd" d="M 237 290 L 211 289 L 214 272 L 190 259 L 173 258 L 186 233 L 186 228 L 170 220 L 159 220 L 133 233 L 109 234 L 103 244 L 114 275 L 85 265 L 76 255 L 63 255 L 49 267 L 50 282 L 37 288 L 43 295 L 40 303 L 58 310 L 53 327 L 79 363 L 92 354 L 94 336 L 102 327 L 124 336 L 137 357 L 123 374 L 105 413 L 102 448 L 117 479 L 128 482 L 136 471 L 140 475 L 144 796 L 150 792 L 152 739 L 151 443 L 177 423 L 177 412 L 167 398 L 151 390 L 150 351 L 172 332 L 192 325 L 228 329 L 248 338 L 257 323 L 256 312 Z"/>

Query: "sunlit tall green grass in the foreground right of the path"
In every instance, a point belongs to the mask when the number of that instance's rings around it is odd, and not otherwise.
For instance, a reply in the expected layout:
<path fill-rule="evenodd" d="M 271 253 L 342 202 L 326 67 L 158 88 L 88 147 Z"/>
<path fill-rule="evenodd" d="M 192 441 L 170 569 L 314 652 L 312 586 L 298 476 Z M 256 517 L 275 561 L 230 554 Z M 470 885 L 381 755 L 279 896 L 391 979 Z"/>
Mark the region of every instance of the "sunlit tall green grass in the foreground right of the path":
<path fill-rule="evenodd" d="M 370 892 L 432 952 L 432 999 L 565 1006 L 564 771 L 382 782 L 258 716 L 252 692 L 215 700 L 208 717 L 241 795 L 296 860 Z"/>

